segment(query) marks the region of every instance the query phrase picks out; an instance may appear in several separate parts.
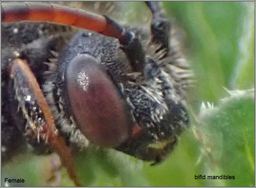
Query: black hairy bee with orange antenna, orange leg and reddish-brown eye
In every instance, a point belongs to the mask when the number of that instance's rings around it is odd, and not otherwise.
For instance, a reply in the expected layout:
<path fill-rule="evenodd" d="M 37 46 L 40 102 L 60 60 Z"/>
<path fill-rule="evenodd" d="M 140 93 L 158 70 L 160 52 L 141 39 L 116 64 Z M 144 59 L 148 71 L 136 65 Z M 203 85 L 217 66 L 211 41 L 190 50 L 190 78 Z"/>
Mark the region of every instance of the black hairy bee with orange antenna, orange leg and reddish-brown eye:
<path fill-rule="evenodd" d="M 191 70 L 160 2 L 149 27 L 47 3 L 1 4 L 1 151 L 114 148 L 161 162 L 189 125 Z M 13 148 L 17 148 L 14 150 Z"/>

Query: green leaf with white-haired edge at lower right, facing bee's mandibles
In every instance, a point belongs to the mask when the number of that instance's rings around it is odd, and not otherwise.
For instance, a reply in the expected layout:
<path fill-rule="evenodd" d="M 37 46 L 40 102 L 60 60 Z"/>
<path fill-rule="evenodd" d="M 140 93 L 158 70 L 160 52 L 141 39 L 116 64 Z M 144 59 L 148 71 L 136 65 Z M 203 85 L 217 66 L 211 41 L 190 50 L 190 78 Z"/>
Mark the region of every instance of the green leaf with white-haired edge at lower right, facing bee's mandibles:
<path fill-rule="evenodd" d="M 208 181 L 208 186 L 254 186 L 255 90 L 228 91 L 215 107 L 202 104 L 196 133 L 202 143 L 206 174 L 232 180 Z M 207 107 L 206 107 L 207 106 Z"/>

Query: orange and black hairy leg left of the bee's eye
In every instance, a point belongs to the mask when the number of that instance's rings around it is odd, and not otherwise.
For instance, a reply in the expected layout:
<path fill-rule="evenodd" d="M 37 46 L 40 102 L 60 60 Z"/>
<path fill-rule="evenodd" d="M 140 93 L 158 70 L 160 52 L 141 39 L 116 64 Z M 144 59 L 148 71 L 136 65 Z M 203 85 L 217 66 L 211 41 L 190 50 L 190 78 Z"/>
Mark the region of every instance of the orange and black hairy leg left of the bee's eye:
<path fill-rule="evenodd" d="M 25 134 L 53 148 L 67 168 L 70 178 L 79 186 L 71 150 L 59 135 L 50 107 L 27 62 L 17 58 L 11 62 L 9 70 L 15 98 L 27 120 Z"/>

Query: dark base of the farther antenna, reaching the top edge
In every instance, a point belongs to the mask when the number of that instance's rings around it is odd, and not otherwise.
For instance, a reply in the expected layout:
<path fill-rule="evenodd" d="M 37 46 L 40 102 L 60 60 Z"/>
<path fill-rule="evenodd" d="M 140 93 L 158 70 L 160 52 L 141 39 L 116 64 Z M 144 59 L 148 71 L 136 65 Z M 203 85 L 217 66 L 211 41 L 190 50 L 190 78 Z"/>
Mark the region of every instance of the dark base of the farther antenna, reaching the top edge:
<path fill-rule="evenodd" d="M 146 1 L 146 4 L 153 13 L 153 18 L 151 22 L 151 33 L 153 36 L 152 40 L 153 42 L 161 45 L 161 48 L 158 49 L 159 51 L 162 49 L 168 50 L 171 23 L 166 18 L 166 14 L 163 10 L 162 4 L 158 1 Z"/>

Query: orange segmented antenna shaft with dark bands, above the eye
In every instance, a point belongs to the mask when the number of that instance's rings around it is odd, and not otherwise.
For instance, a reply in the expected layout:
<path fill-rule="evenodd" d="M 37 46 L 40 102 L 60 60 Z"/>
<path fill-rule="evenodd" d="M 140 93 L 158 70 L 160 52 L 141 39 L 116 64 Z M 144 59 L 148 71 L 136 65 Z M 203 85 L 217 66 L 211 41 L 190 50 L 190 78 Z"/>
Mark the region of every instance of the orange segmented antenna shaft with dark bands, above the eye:
<path fill-rule="evenodd" d="M 76 26 L 116 38 L 121 38 L 123 34 L 121 26 L 103 15 L 56 4 L 2 3 L 1 12 L 2 22 L 52 22 Z"/>

